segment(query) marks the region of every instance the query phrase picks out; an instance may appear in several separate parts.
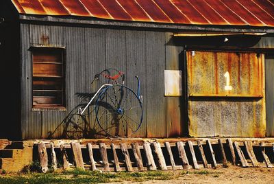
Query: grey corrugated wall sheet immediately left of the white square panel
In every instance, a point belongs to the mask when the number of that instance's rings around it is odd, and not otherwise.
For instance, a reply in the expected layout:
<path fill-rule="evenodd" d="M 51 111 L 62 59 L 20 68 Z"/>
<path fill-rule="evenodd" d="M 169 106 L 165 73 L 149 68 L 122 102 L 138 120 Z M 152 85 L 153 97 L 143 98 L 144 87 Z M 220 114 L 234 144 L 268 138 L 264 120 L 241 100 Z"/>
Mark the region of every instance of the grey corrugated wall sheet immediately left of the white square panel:
<path fill-rule="evenodd" d="M 165 34 L 146 32 L 147 137 L 166 137 Z"/>

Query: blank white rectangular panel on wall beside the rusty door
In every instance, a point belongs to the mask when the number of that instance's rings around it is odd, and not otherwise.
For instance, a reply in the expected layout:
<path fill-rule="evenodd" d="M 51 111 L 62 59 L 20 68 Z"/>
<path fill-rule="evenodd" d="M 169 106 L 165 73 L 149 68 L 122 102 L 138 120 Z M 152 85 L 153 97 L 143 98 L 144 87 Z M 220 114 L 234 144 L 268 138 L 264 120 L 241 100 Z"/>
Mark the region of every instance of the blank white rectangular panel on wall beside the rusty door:
<path fill-rule="evenodd" d="M 165 70 L 164 71 L 164 95 L 182 96 L 182 71 Z"/>

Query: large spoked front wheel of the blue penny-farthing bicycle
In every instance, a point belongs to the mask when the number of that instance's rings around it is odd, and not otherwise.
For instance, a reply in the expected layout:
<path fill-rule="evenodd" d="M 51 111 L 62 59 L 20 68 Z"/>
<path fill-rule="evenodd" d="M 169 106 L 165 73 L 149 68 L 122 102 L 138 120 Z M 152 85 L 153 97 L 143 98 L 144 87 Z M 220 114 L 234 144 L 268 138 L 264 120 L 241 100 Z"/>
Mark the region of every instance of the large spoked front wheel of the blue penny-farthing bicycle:
<path fill-rule="evenodd" d="M 142 124 L 142 102 L 120 84 L 105 87 L 95 104 L 97 123 L 110 137 L 130 137 Z"/>

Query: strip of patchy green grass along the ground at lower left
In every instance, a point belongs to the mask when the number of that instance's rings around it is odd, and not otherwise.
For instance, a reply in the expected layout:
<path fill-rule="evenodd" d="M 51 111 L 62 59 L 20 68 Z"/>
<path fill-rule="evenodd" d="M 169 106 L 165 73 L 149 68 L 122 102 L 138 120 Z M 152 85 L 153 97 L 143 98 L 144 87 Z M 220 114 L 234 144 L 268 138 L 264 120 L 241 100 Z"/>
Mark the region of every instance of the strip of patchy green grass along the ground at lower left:
<path fill-rule="evenodd" d="M 50 172 L 47 174 L 38 172 L 27 172 L 17 174 L 2 174 L 0 183 L 108 183 L 120 181 L 147 181 L 167 180 L 175 176 L 169 172 L 94 172 L 84 170 L 69 170 L 64 172 Z"/>

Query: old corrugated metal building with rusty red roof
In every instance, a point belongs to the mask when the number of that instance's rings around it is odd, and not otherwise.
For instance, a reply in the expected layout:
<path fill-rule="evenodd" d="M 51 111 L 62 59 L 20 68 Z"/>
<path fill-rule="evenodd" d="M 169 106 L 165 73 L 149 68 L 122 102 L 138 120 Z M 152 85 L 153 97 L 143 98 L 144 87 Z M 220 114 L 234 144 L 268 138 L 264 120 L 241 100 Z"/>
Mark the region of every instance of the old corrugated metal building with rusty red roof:
<path fill-rule="evenodd" d="M 109 68 L 140 79 L 133 137 L 274 136 L 272 0 L 5 0 L 0 21 L 1 137 L 63 137 Z"/>

